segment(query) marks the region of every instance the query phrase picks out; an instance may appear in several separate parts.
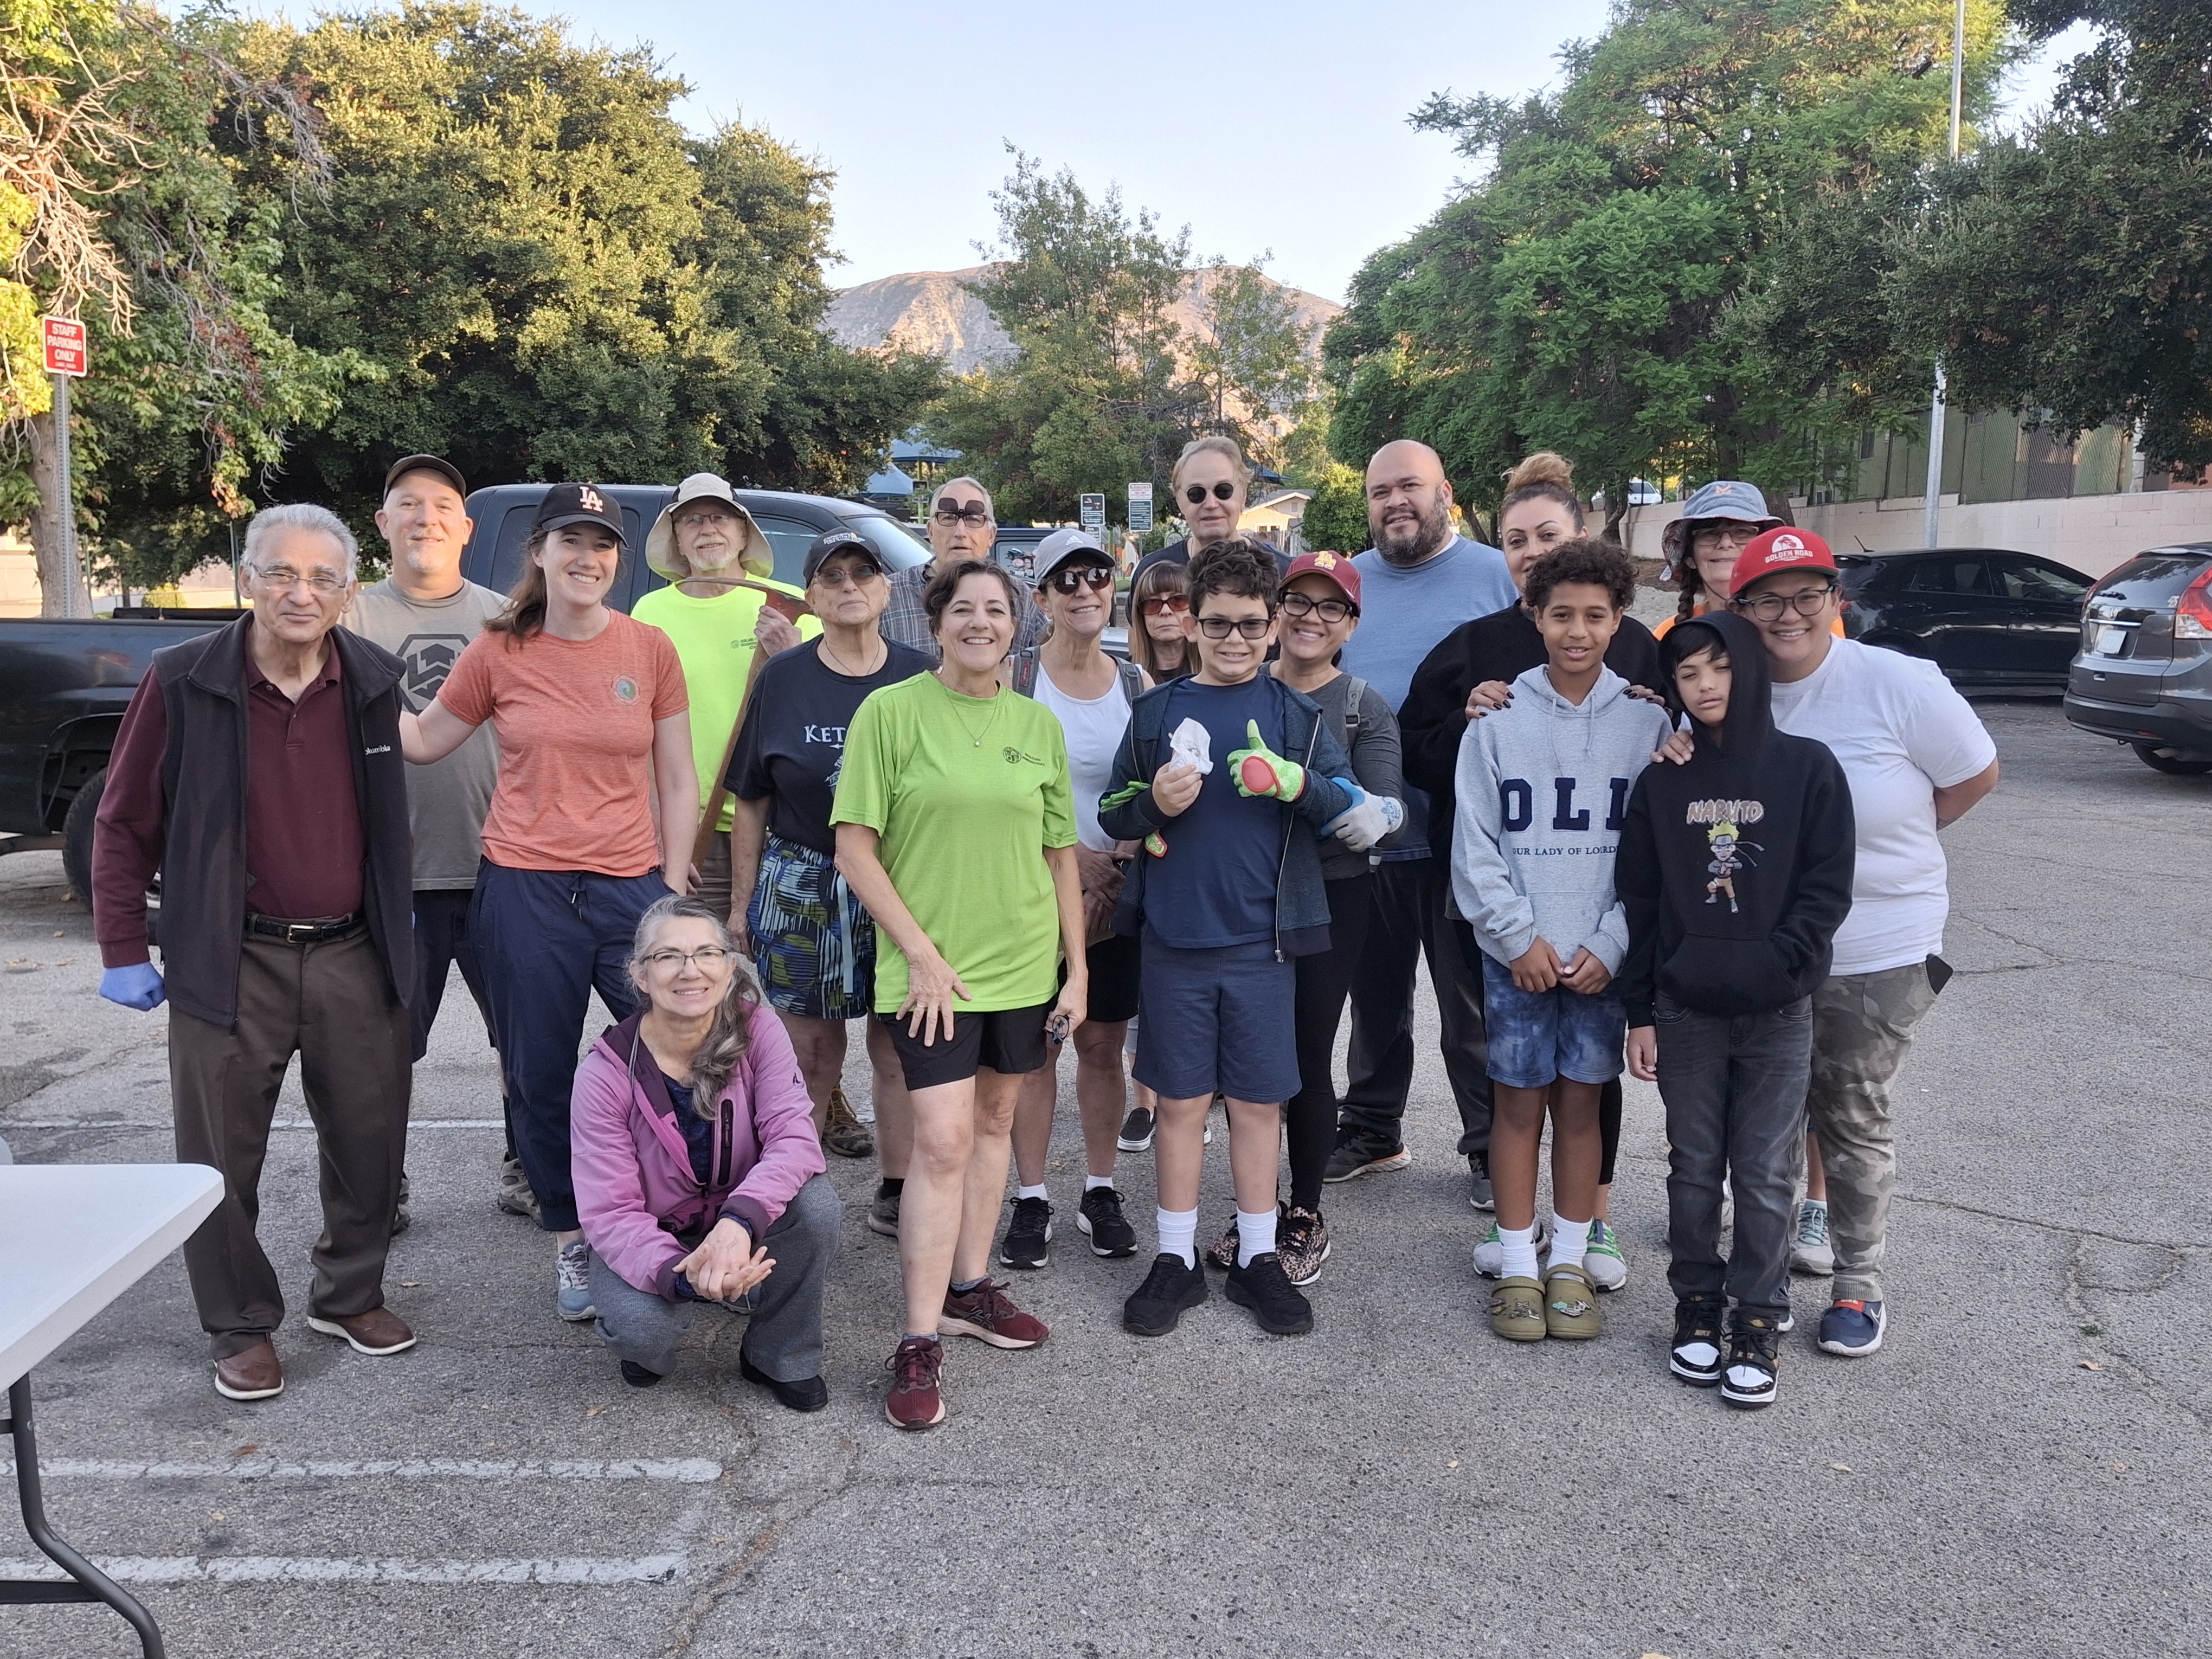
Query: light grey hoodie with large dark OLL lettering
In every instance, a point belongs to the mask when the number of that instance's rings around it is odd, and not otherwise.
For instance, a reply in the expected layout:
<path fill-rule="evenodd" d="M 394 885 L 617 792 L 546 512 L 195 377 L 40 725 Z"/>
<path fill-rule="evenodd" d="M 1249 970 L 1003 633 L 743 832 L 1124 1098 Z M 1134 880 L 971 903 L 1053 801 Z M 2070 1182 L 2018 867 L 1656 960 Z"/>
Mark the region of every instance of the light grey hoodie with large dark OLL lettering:
<path fill-rule="evenodd" d="M 1559 962 L 1588 949 L 1608 973 L 1628 953 L 1613 854 L 1628 794 L 1670 732 L 1668 714 L 1601 668 L 1582 703 L 1544 668 L 1460 739 L 1451 898 L 1484 956 L 1511 964 L 1542 933 Z"/>

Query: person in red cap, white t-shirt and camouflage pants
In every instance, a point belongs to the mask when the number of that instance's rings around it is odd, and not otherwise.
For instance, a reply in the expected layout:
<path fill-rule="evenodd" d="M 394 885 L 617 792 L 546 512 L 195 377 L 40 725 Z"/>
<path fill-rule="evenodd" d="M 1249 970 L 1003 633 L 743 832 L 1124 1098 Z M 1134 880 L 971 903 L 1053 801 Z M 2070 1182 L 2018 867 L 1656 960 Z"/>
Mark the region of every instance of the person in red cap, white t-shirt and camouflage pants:
<path fill-rule="evenodd" d="M 1827 1170 L 1836 1248 L 1818 1343 L 1860 1358 L 1889 1325 L 1889 1088 L 1913 1026 L 1951 978 L 1938 956 L 1951 898 L 1936 832 L 1997 787 L 1997 745 L 1936 664 L 1834 635 L 1843 608 L 1836 555 L 1812 531 L 1752 538 L 1730 573 L 1728 604 L 1767 648 L 1774 726 L 1827 743 L 1858 821 L 1851 914 L 1836 929 L 1829 978 L 1812 995 L 1805 1108 Z"/>

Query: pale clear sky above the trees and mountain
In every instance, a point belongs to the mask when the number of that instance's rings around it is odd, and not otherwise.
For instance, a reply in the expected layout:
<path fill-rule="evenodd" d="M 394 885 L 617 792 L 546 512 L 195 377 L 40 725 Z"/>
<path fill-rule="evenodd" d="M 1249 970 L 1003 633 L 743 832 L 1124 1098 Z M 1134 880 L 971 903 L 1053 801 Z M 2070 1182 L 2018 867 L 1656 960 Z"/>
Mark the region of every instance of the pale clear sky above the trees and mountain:
<path fill-rule="evenodd" d="M 1168 230 L 1190 226 L 1199 257 L 1272 252 L 1267 274 L 1336 301 L 1469 173 L 1407 113 L 1436 91 L 1544 86 L 1559 46 L 1606 18 L 1604 0 L 522 4 L 611 46 L 650 44 L 695 88 L 686 126 L 765 126 L 834 168 L 836 288 L 978 263 L 1013 144 L 1091 190 L 1117 184 Z M 2057 44 L 2017 77 L 2013 111 L 2046 100 L 2053 64 L 2084 49 Z"/>

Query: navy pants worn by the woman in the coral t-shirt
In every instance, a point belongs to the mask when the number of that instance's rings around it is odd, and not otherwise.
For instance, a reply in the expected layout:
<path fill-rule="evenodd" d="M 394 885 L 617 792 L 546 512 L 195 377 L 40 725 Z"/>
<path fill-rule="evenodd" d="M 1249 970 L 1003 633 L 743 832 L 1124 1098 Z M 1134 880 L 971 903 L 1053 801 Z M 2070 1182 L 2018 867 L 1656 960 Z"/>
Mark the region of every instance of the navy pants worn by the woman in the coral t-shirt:
<path fill-rule="evenodd" d="M 491 1035 L 500 1044 L 515 1155 L 538 1194 L 546 1232 L 575 1230 L 568 1175 L 568 1091 L 591 993 L 615 1020 L 637 1011 L 630 938 L 661 872 L 597 876 L 584 869 L 509 869 L 489 858 L 476 876 L 469 936 L 484 971 Z"/>

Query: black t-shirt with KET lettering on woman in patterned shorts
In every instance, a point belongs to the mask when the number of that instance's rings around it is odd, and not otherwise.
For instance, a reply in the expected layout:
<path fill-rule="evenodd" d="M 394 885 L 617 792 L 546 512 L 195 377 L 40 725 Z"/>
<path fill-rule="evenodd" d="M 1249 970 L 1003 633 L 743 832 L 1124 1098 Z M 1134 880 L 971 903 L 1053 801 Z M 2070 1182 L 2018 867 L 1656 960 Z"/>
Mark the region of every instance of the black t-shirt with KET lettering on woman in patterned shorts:
<path fill-rule="evenodd" d="M 745 699 L 728 783 L 739 801 L 770 799 L 772 834 L 814 852 L 836 852 L 830 805 L 845 765 L 845 728 L 872 690 L 936 666 L 909 646 L 889 639 L 885 646 L 883 668 L 860 679 L 830 668 L 816 641 L 768 659 Z"/>

